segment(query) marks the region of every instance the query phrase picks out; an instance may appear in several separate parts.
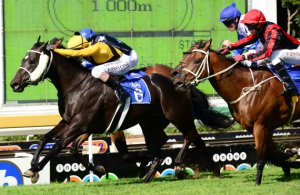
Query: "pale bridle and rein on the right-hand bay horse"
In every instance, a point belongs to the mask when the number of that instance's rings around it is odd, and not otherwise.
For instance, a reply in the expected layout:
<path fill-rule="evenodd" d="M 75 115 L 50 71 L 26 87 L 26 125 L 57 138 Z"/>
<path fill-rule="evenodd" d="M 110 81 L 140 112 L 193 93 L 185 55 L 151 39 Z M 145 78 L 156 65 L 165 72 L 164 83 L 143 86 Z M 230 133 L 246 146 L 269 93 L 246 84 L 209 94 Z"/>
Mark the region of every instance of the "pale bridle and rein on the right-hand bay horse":
<path fill-rule="evenodd" d="M 191 70 L 185 68 L 185 67 L 182 68 L 182 70 L 185 70 L 186 72 L 192 74 L 195 77 L 194 80 L 192 82 L 190 82 L 189 85 L 197 85 L 197 84 L 199 84 L 200 82 L 202 82 L 204 80 L 207 80 L 209 78 L 212 78 L 212 77 L 215 77 L 215 76 L 217 76 L 219 74 L 227 72 L 228 70 L 232 69 L 234 66 L 236 66 L 238 64 L 238 62 L 236 62 L 236 63 L 232 64 L 231 66 L 227 67 L 226 69 L 224 69 L 224 70 L 222 70 L 220 72 L 217 72 L 216 74 L 210 75 L 210 72 L 209 72 L 209 62 L 208 62 L 209 50 L 204 51 L 202 49 L 194 49 L 194 50 L 192 50 L 192 52 L 190 54 L 192 54 L 194 52 L 203 53 L 205 55 L 205 57 L 203 58 L 201 65 L 199 66 L 199 68 L 197 69 L 197 71 L 195 73 L 192 72 Z M 207 75 L 208 76 L 204 77 L 202 79 L 199 79 L 200 76 L 202 75 L 202 73 L 205 71 L 205 69 L 207 69 Z"/>

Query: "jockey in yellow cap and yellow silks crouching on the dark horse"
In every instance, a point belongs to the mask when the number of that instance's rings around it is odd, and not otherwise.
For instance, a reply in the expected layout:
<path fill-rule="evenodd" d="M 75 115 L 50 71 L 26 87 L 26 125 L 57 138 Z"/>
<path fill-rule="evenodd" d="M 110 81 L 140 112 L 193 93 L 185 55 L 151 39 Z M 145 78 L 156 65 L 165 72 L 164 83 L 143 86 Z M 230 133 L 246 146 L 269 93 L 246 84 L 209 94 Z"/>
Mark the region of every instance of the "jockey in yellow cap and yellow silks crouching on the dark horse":
<path fill-rule="evenodd" d="M 105 43 L 97 42 L 91 45 L 80 35 L 71 37 L 67 47 L 68 49 L 54 49 L 54 52 L 63 56 L 90 59 L 94 64 L 97 64 L 92 69 L 92 76 L 116 90 L 118 101 L 121 104 L 129 100 L 128 92 L 110 76 L 123 75 L 130 70 L 132 64 L 128 55 Z"/>

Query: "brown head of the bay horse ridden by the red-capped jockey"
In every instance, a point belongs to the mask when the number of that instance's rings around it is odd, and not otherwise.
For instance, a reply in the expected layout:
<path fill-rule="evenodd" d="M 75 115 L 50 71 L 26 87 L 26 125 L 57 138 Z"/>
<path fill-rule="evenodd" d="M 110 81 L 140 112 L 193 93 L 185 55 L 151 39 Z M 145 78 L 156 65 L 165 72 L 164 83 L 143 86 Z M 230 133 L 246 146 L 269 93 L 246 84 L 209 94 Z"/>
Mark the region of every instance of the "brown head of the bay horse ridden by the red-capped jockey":
<path fill-rule="evenodd" d="M 209 48 L 211 41 L 198 41 L 183 53 L 183 59 L 172 71 L 172 81 L 177 91 L 185 91 L 190 85 L 197 85 L 209 75 Z"/>

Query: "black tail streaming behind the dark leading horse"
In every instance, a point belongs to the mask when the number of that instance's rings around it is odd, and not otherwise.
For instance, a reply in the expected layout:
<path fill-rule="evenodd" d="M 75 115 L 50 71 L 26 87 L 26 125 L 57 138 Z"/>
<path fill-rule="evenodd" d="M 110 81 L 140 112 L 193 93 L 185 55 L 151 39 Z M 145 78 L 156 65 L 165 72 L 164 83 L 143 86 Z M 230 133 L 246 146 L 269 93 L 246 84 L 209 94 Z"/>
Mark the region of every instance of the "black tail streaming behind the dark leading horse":
<path fill-rule="evenodd" d="M 201 120 L 204 125 L 214 129 L 228 128 L 234 123 L 231 117 L 213 110 L 208 102 L 208 97 L 203 92 L 196 87 L 190 89 L 195 119 Z"/>

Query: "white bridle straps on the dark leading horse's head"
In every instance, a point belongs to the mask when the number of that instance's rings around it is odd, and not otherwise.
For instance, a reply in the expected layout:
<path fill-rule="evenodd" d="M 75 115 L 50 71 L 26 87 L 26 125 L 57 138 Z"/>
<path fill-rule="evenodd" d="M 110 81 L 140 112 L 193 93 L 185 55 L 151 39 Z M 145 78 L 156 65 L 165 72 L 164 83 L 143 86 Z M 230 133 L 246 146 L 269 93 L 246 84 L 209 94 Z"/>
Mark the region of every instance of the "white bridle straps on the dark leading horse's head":
<path fill-rule="evenodd" d="M 39 51 L 35 51 L 35 50 L 28 50 L 28 52 L 33 52 L 33 53 L 37 53 L 37 54 L 40 54 L 40 59 L 42 56 L 47 56 L 46 54 L 44 54 L 44 52 L 39 52 Z M 27 53 L 28 53 L 27 52 Z M 53 53 L 52 51 L 50 50 L 50 60 L 47 62 L 47 65 L 46 67 L 42 70 L 43 72 L 41 73 L 42 76 L 39 76 L 38 78 L 34 78 L 32 79 L 35 71 L 39 68 L 40 63 L 37 65 L 37 67 L 35 68 L 35 70 L 33 72 L 30 72 L 29 70 L 27 70 L 26 68 L 20 66 L 19 69 L 22 69 L 24 70 L 25 72 L 27 72 L 29 74 L 29 83 L 32 84 L 32 83 L 36 83 L 38 81 L 41 81 L 41 80 L 44 80 L 44 77 L 45 75 L 47 74 L 47 72 L 49 71 L 50 69 L 50 66 L 52 64 L 52 60 L 53 60 Z"/>

